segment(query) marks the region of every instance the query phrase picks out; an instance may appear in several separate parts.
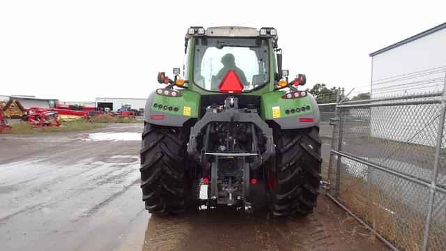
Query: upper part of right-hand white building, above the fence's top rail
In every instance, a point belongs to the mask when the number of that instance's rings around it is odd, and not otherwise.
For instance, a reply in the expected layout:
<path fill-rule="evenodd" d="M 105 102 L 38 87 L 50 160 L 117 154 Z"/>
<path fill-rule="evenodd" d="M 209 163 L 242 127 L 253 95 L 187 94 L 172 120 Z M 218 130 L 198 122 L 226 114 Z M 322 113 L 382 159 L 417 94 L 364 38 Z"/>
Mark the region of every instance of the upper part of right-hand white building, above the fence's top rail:
<path fill-rule="evenodd" d="M 371 98 L 443 91 L 446 23 L 371 53 Z"/>

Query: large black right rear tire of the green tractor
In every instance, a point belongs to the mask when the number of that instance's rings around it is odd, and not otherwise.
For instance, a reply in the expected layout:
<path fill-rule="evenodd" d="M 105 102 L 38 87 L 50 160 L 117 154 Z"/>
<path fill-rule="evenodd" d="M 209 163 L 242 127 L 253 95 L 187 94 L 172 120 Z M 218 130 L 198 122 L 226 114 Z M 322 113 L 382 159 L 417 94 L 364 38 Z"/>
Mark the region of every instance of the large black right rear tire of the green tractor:
<path fill-rule="evenodd" d="M 268 206 L 274 215 L 309 215 L 321 183 L 319 128 L 278 130 L 276 168 L 268 172 Z"/>

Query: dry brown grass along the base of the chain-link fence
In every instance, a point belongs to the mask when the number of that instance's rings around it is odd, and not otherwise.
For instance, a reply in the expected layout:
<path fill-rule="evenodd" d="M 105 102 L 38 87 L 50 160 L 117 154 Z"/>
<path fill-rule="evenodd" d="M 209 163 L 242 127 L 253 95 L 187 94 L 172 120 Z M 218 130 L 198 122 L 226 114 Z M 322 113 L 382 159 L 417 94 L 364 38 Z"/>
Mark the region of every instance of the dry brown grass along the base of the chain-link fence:
<path fill-rule="evenodd" d="M 358 217 L 401 250 L 421 250 L 425 213 L 392 199 L 360 178 L 350 177 L 348 189 L 341 191 L 341 200 Z M 358 179 L 358 180 L 356 180 Z M 359 180 L 360 179 L 360 180 Z M 445 229 L 431 228 L 430 250 L 446 250 Z"/>

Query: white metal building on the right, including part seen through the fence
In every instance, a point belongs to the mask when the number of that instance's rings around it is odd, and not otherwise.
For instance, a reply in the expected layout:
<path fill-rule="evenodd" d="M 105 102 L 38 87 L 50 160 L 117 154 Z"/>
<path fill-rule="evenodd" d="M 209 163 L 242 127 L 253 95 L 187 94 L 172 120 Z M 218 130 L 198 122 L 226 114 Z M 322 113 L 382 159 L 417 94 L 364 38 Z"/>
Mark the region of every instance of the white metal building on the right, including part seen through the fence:
<path fill-rule="evenodd" d="M 440 93 L 446 79 L 446 23 L 370 54 L 371 98 Z M 435 146 L 439 104 L 371 107 L 371 135 Z"/>

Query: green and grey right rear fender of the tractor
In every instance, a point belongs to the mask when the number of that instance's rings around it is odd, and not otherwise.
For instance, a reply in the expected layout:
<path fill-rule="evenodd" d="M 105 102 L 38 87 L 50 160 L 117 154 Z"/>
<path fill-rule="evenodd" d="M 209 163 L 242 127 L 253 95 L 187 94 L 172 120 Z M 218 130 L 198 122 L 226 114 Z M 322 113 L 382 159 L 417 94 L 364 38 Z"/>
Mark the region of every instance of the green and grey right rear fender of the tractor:
<path fill-rule="evenodd" d="M 275 121 L 282 130 L 318 126 L 321 114 L 314 96 L 306 91 L 301 98 L 282 98 L 285 95 L 284 91 L 274 91 L 262 96 L 262 119 Z"/>

